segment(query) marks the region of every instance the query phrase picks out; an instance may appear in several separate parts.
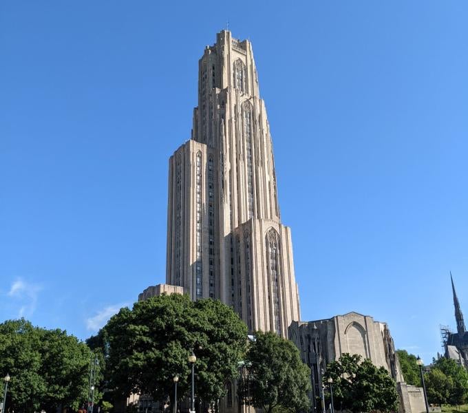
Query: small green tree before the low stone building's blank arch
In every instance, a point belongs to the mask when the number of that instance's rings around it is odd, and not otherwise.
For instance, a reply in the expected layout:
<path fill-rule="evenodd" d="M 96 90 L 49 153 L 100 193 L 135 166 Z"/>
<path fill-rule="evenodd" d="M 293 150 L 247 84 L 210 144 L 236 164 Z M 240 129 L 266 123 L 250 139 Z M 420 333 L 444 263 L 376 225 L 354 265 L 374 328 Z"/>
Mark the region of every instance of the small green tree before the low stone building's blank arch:
<path fill-rule="evenodd" d="M 351 412 L 398 410 L 396 384 L 385 368 L 357 354 L 342 354 L 327 366 L 325 381 L 332 379 L 335 406 Z"/>

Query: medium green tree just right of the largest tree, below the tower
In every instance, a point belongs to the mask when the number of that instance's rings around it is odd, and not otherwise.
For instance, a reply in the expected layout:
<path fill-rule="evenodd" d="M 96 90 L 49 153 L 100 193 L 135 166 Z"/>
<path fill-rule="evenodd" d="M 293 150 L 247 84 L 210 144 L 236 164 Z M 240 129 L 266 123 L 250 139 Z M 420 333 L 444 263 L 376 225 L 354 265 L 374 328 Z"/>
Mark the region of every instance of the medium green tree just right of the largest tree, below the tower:
<path fill-rule="evenodd" d="M 247 357 L 249 396 L 265 413 L 306 411 L 310 407 L 310 369 L 299 350 L 273 332 L 256 332 Z M 244 386 L 245 388 L 245 386 Z M 246 392 L 243 394 L 246 398 Z"/>

